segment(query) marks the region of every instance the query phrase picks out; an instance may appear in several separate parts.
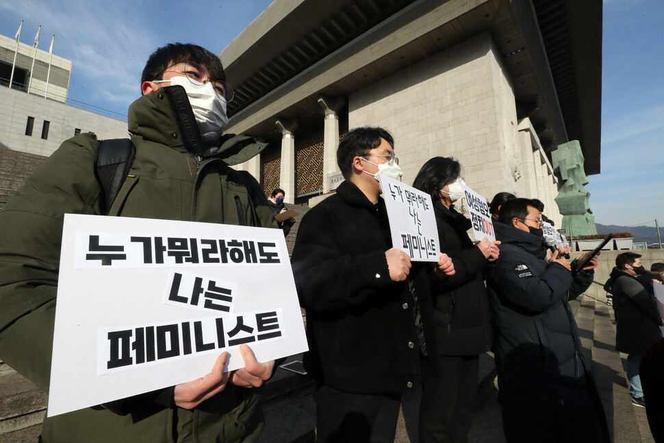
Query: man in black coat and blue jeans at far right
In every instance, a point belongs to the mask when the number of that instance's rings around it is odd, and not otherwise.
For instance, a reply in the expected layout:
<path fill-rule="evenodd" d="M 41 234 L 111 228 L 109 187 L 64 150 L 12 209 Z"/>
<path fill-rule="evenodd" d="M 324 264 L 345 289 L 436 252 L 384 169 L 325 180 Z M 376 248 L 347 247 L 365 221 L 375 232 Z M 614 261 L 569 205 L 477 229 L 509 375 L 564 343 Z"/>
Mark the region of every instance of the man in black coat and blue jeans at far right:
<path fill-rule="evenodd" d="M 641 265 L 641 255 L 626 252 L 615 257 L 611 271 L 615 311 L 615 349 L 628 354 L 627 378 L 632 403 L 645 407 L 639 364 L 650 344 L 662 338 L 662 318 L 652 294 L 654 275 Z"/>

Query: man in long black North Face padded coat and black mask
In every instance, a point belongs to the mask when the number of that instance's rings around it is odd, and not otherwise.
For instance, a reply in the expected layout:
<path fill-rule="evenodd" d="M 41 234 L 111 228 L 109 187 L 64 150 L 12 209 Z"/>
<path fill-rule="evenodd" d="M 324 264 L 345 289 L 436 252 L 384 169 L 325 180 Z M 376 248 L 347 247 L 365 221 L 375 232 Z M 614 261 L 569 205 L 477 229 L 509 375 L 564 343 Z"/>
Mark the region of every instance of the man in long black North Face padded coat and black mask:
<path fill-rule="evenodd" d="M 558 251 L 545 262 L 539 212 L 528 199 L 500 208 L 500 259 L 487 290 L 494 327 L 502 421 L 508 442 L 608 442 L 609 430 L 583 357 L 569 299 L 593 279 L 572 277 Z"/>

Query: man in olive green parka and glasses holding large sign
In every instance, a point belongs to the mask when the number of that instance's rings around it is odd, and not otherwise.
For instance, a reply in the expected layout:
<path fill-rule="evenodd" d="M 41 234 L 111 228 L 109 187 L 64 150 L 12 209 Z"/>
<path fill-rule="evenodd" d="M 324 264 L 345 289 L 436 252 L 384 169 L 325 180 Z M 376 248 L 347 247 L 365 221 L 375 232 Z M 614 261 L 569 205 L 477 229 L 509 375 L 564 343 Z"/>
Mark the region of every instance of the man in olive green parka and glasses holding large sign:
<path fill-rule="evenodd" d="M 141 90 L 128 118 L 136 158 L 108 214 L 276 228 L 257 181 L 229 167 L 263 145 L 222 134 L 233 91 L 218 58 L 196 45 L 161 47 Z M 0 211 L 0 358 L 45 392 L 64 214 L 106 214 L 96 155 L 93 134 L 66 140 Z M 222 353 L 201 379 L 46 418 L 43 441 L 254 441 L 257 388 L 274 362 L 240 352 L 243 369 L 224 373 Z"/>

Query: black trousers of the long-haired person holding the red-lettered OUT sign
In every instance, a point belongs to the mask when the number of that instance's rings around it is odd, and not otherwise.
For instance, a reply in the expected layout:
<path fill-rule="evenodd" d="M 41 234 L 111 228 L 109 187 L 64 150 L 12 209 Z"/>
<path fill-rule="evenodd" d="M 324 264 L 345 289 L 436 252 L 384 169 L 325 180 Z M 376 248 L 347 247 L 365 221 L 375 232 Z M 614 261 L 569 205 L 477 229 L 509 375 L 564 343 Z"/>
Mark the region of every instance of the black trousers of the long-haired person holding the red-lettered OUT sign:
<path fill-rule="evenodd" d="M 420 442 L 468 439 L 477 396 L 478 355 L 442 355 L 442 372 L 428 375 L 422 388 Z"/>

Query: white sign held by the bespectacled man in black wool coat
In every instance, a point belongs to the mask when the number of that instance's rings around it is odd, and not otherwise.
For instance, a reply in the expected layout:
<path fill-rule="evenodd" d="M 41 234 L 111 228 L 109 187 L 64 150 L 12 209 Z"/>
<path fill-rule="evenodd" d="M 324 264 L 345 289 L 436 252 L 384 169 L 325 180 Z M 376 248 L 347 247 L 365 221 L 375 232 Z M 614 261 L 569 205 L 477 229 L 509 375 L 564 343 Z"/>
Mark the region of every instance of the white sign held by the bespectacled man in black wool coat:
<path fill-rule="evenodd" d="M 379 174 L 383 199 L 390 219 L 392 246 L 413 262 L 438 262 L 440 246 L 431 196 Z"/>

